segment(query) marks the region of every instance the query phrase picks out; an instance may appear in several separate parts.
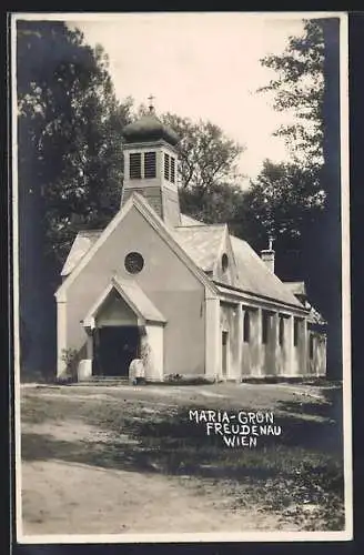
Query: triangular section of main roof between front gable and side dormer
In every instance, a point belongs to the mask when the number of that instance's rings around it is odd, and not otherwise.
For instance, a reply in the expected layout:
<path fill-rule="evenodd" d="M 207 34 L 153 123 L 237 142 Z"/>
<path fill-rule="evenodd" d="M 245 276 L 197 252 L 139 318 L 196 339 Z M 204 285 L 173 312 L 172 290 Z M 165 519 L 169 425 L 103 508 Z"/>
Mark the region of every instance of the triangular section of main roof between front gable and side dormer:
<path fill-rule="evenodd" d="M 172 235 L 204 272 L 214 266 L 225 233 L 225 224 L 174 228 Z"/>

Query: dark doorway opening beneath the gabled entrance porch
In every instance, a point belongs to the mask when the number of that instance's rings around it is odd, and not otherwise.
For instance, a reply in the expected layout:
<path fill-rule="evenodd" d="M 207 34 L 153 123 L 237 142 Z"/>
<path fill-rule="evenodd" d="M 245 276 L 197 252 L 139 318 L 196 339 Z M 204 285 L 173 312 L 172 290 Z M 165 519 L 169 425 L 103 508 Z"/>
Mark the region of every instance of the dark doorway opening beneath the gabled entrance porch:
<path fill-rule="evenodd" d="M 138 326 L 104 326 L 93 339 L 93 375 L 128 376 L 129 366 L 139 356 Z"/>

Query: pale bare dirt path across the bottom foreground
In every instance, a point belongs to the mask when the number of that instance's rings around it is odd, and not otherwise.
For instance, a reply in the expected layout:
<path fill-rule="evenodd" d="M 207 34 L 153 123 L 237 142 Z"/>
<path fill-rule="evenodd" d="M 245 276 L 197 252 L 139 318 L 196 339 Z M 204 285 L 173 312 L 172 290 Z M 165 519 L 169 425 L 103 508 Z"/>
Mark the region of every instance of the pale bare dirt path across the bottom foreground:
<path fill-rule="evenodd" d="M 82 421 L 27 424 L 23 432 L 62 442 L 100 441 Z M 128 441 L 128 436 L 125 436 Z M 294 529 L 274 513 L 232 508 L 223 486 L 65 462 L 22 463 L 23 534 L 204 533 Z M 296 528 L 297 529 L 297 528 Z"/>

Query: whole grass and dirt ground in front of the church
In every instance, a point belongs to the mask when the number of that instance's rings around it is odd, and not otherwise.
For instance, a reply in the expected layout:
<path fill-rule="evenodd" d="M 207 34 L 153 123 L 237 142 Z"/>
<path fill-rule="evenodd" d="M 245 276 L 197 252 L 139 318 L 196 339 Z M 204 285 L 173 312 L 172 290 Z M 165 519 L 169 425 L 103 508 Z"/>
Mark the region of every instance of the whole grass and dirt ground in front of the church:
<path fill-rule="evenodd" d="M 193 408 L 273 411 L 282 435 L 229 448 Z M 341 414 L 325 384 L 24 386 L 24 532 L 343 529 Z"/>

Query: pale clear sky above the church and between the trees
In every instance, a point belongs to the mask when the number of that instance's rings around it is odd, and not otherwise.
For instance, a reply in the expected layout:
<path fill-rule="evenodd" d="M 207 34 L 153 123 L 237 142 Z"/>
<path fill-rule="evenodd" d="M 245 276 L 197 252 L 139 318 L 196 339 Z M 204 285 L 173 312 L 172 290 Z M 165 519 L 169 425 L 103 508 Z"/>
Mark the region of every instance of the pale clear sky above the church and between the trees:
<path fill-rule="evenodd" d="M 290 121 L 273 110 L 270 95 L 256 93 L 275 77 L 260 59 L 282 53 L 289 37 L 302 33 L 302 17 L 118 13 L 68 24 L 90 46 L 102 44 L 120 100 L 131 95 L 136 105 L 148 104 L 153 94 L 156 114 L 169 111 L 220 125 L 245 147 L 239 169 L 254 179 L 264 159 L 287 159 L 283 140 L 272 133 Z"/>

